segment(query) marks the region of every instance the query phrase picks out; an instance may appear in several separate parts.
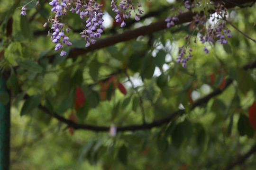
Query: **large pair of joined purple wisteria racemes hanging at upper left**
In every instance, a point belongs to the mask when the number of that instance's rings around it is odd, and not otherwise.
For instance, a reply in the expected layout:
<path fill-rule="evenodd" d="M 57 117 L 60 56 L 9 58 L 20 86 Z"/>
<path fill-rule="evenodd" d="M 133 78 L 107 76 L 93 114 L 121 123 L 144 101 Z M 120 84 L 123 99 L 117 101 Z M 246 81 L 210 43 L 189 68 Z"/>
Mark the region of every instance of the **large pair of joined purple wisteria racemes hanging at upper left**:
<path fill-rule="evenodd" d="M 72 45 L 72 43 L 69 42 L 69 37 L 66 35 L 66 33 L 70 32 L 70 28 L 68 28 L 62 20 L 62 16 L 65 16 L 67 11 L 75 12 L 82 19 L 86 18 L 86 29 L 80 33 L 87 41 L 85 47 L 89 47 L 90 44 L 95 44 L 95 38 L 101 37 L 101 33 L 105 28 L 102 26 L 102 22 L 104 21 L 102 19 L 102 5 L 95 0 L 52 0 L 49 2 L 49 5 L 52 6 L 51 11 L 55 13 L 55 17 L 53 19 L 49 17 L 44 27 L 47 26 L 47 23 L 51 23 L 51 30 L 48 31 L 48 36 L 51 36 L 51 41 L 56 44 L 55 51 L 61 50 L 64 44 L 67 46 Z M 26 5 L 23 6 L 20 15 L 27 15 L 26 9 Z M 66 51 L 61 51 L 61 56 L 63 55 L 66 55 Z"/>

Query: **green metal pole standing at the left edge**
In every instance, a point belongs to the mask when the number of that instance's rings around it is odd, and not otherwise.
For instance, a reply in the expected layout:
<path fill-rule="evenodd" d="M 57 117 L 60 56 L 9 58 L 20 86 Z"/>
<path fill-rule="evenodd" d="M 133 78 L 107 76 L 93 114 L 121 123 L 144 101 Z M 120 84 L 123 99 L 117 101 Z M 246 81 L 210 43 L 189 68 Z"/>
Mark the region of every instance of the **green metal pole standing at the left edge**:
<path fill-rule="evenodd" d="M 6 78 L 0 75 L 0 96 L 9 94 L 6 87 Z M 4 95 L 6 96 L 6 95 Z M 3 100 L 3 99 L 2 99 Z M 1 100 L 1 101 L 2 101 Z M 10 160 L 10 102 L 9 96 L 7 102 L 0 102 L 0 170 L 9 170 Z"/>

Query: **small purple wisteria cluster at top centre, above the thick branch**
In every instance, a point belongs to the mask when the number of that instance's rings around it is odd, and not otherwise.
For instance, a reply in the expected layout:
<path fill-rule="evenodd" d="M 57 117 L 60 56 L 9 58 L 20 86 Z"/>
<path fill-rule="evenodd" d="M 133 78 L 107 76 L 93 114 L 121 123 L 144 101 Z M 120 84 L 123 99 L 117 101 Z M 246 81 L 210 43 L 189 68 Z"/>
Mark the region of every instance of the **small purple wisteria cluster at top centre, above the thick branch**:
<path fill-rule="evenodd" d="M 119 8 L 117 7 L 116 4 L 118 4 Z M 116 0 L 116 2 L 112 0 L 110 6 L 112 7 L 112 11 L 116 13 L 116 17 L 115 17 L 116 22 L 118 23 L 122 22 L 120 25 L 121 27 L 126 26 L 126 23 L 124 20 L 131 17 L 131 10 L 135 11 L 136 9 L 132 0 Z M 139 21 L 140 14 L 142 14 L 143 10 L 139 9 L 141 5 L 138 2 L 137 2 L 137 7 L 138 7 L 137 9 L 138 13 L 136 13 L 135 11 L 135 20 Z M 129 11 L 127 11 L 127 9 L 129 9 Z"/>

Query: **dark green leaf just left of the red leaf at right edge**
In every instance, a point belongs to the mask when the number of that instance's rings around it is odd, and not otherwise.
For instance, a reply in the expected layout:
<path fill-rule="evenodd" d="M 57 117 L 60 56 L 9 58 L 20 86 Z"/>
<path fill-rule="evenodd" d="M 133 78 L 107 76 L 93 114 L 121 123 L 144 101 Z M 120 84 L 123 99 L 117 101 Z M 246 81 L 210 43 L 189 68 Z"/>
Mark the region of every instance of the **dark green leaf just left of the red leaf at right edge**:
<path fill-rule="evenodd" d="M 254 130 L 250 126 L 249 118 L 244 114 L 240 114 L 240 117 L 238 120 L 238 132 L 241 136 L 245 136 L 245 135 L 247 135 L 248 137 L 254 136 Z"/>

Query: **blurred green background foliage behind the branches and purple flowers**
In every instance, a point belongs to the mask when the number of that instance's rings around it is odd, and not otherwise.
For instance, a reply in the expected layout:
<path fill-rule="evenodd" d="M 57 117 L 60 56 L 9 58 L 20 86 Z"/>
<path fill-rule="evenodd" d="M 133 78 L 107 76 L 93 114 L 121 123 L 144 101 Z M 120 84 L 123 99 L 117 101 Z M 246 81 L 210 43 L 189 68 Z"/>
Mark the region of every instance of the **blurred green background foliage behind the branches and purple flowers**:
<path fill-rule="evenodd" d="M 207 44 L 209 54 L 199 39 L 191 42 L 193 57 L 187 68 L 175 60 L 178 47 L 187 43 L 189 23 L 67 59 L 54 51 L 47 37 L 50 26 L 43 27 L 53 15 L 49 1 L 40 0 L 36 7 L 34 0 L 27 5 L 27 16 L 20 16 L 17 7 L 29 1 L 3 0 L 0 8 L 0 51 L 4 50 L 0 67 L 15 69 L 7 84 L 12 89 L 11 170 L 220 170 L 255 144 L 247 112 L 255 100 L 256 70 L 242 69 L 256 59 L 255 43 L 230 25 L 229 43 Z M 110 0 L 98 2 L 105 4 L 102 39 L 165 19 L 174 14 L 173 7 L 184 10 L 181 0 L 139 0 L 144 15 L 163 10 L 120 28 L 113 22 Z M 13 17 L 11 39 L 5 36 L 9 16 Z M 228 20 L 252 38 L 255 16 L 255 5 L 228 10 Z M 63 19 L 72 29 L 73 45 L 66 51 L 85 48 L 79 35 L 85 20 L 72 13 Z M 51 61 L 48 56 L 53 54 Z M 127 94 L 111 84 L 107 100 L 102 99 L 101 82 L 113 75 Z M 190 110 L 192 102 L 221 88 L 228 78 L 234 81 L 223 93 Z M 186 113 L 160 127 L 114 137 L 90 130 L 71 135 L 65 124 L 37 105 L 68 119 L 77 86 L 85 95 L 85 104 L 76 113 L 79 123 L 126 126 L 150 123 L 178 109 L 185 108 Z M 254 154 L 234 170 L 255 167 Z"/>

